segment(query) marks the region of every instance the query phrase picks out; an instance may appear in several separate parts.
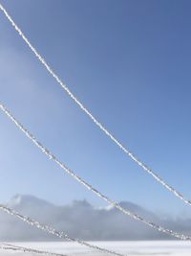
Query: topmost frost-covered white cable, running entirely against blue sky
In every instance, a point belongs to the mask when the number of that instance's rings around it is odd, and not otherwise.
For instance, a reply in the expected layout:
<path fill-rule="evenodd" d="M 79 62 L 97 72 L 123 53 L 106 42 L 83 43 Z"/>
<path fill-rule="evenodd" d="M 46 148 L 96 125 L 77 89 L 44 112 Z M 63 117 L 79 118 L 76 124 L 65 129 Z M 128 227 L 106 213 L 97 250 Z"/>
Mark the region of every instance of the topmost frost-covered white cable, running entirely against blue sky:
<path fill-rule="evenodd" d="M 36 58 L 39 59 L 39 61 L 45 66 L 45 68 L 48 70 L 48 72 L 53 76 L 55 81 L 57 81 L 61 87 L 67 92 L 67 94 L 73 99 L 74 103 L 78 105 L 82 111 L 84 111 L 89 118 L 96 124 L 98 128 L 100 128 L 117 146 L 120 148 L 121 151 L 125 152 L 126 155 L 128 155 L 133 161 L 135 161 L 138 166 L 140 166 L 144 171 L 146 171 L 149 175 L 152 175 L 162 186 L 164 186 L 167 190 L 172 192 L 177 198 L 180 198 L 185 203 L 191 205 L 191 200 L 185 198 L 178 190 L 176 190 L 174 187 L 169 185 L 162 177 L 160 177 L 157 173 L 155 173 L 151 168 L 149 168 L 146 164 L 144 164 L 141 160 L 138 159 L 138 156 L 136 156 L 132 151 L 130 151 L 128 148 L 124 147 L 122 143 L 117 140 L 117 138 L 107 129 L 105 128 L 92 114 L 92 112 L 83 105 L 72 93 L 72 91 L 69 89 L 69 87 L 55 74 L 52 67 L 48 64 L 48 62 L 43 58 L 38 51 L 32 46 L 29 39 L 24 35 L 24 33 L 21 31 L 21 29 L 16 25 L 16 23 L 11 18 L 11 15 L 6 11 L 6 9 L 0 4 L 0 10 L 6 15 L 8 20 L 11 22 L 11 25 L 13 28 L 17 31 L 17 33 L 23 38 L 23 40 L 27 43 L 27 45 L 32 50 L 32 53 L 35 55 Z"/>

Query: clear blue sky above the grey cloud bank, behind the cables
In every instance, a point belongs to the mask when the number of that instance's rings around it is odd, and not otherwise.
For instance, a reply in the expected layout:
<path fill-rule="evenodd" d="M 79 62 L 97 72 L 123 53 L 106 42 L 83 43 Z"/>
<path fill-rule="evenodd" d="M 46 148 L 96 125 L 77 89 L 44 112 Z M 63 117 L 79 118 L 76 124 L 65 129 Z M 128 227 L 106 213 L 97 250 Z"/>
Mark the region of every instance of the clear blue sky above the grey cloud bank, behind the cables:
<path fill-rule="evenodd" d="M 1 1 L 32 44 L 117 138 L 191 198 L 191 2 Z M 0 13 L 0 101 L 96 188 L 150 210 L 191 214 L 74 105 Z M 0 114 L 0 201 L 54 203 L 86 191 Z"/>

